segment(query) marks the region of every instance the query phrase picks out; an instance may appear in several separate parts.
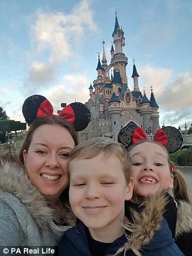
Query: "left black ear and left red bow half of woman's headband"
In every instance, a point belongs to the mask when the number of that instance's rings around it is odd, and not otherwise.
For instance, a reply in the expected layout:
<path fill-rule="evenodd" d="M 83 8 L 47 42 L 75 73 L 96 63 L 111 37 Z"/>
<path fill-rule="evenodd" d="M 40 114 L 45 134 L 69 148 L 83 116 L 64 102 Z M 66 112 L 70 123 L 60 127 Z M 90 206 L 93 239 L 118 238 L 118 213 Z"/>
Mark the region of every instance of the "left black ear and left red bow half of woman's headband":
<path fill-rule="evenodd" d="M 36 94 L 24 100 L 22 112 L 26 123 L 31 124 L 38 117 L 53 115 L 53 106 L 44 96 Z"/>

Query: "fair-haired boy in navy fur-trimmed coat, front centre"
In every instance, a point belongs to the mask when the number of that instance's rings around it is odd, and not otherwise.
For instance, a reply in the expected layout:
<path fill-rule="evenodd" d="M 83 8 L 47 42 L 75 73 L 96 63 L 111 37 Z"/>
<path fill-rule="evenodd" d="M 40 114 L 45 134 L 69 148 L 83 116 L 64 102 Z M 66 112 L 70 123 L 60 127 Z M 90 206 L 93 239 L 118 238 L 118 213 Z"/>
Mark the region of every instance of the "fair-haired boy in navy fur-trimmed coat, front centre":
<path fill-rule="evenodd" d="M 69 198 L 78 220 L 76 227 L 65 232 L 61 239 L 59 255 L 141 255 L 137 245 L 141 231 L 137 231 L 137 225 L 129 226 L 125 219 L 125 200 L 131 200 L 133 189 L 130 169 L 129 154 L 124 146 L 112 139 L 91 139 L 73 149 L 69 163 Z M 142 220 L 146 227 L 149 222 Z M 153 223 L 154 232 L 159 228 L 160 220 L 157 222 L 157 225 Z M 142 255 L 183 255 L 174 244 L 164 219 L 161 225 L 151 243 L 149 234 L 149 242 L 146 242 L 146 231 L 141 234 L 145 245 Z M 134 236 L 129 230 L 134 230 Z M 152 232 L 149 230 L 150 234 Z M 162 240 L 166 237 L 160 247 L 159 237 Z"/>

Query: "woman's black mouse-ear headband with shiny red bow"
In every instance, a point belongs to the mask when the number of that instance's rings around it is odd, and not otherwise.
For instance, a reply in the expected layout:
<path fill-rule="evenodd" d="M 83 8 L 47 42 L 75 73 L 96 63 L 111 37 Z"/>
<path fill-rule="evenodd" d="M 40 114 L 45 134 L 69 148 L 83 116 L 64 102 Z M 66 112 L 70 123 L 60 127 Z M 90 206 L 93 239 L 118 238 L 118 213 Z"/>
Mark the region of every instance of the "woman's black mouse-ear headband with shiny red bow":
<path fill-rule="evenodd" d="M 42 95 L 32 95 L 28 97 L 23 104 L 23 115 L 28 124 L 31 124 L 33 120 L 38 117 L 44 116 L 60 116 L 67 120 L 75 131 L 82 131 L 85 129 L 90 121 L 90 110 L 80 102 L 73 102 L 64 109 L 61 110 L 60 114 L 53 114 L 53 106 L 51 103 Z"/>

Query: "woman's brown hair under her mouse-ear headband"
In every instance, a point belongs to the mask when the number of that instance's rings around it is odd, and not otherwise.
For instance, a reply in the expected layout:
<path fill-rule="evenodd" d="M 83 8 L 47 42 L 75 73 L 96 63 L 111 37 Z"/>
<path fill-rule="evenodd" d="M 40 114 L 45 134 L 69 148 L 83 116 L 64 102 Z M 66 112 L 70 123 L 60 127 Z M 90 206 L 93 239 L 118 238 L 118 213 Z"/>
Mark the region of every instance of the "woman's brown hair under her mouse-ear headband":
<path fill-rule="evenodd" d="M 26 153 L 28 152 L 29 146 L 33 139 L 33 133 L 36 131 L 36 129 L 38 129 L 38 127 L 45 124 L 60 125 L 61 127 L 67 129 L 72 135 L 73 141 L 75 142 L 75 146 L 78 144 L 77 136 L 72 124 L 67 122 L 65 119 L 61 117 L 51 117 L 51 116 L 40 117 L 38 119 L 35 119 L 30 125 L 29 131 L 26 135 L 26 138 L 24 139 L 23 146 L 21 147 L 21 150 L 19 152 L 19 160 L 21 161 L 22 164 L 24 164 L 23 151 L 26 150 Z"/>

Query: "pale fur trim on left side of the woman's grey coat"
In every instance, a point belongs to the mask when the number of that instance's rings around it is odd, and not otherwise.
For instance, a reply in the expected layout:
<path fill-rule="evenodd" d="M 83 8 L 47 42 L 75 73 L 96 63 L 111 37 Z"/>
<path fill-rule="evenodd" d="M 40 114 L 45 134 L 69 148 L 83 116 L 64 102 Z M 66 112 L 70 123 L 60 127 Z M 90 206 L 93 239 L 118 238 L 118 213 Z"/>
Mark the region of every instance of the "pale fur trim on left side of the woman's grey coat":
<path fill-rule="evenodd" d="M 26 205 L 40 228 L 48 227 L 54 211 L 48 207 L 46 198 L 33 186 L 23 166 L 3 161 L 0 165 L 0 189 L 16 196 Z"/>

